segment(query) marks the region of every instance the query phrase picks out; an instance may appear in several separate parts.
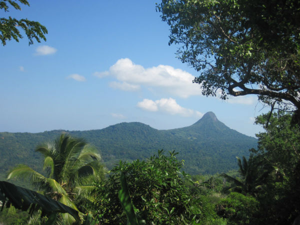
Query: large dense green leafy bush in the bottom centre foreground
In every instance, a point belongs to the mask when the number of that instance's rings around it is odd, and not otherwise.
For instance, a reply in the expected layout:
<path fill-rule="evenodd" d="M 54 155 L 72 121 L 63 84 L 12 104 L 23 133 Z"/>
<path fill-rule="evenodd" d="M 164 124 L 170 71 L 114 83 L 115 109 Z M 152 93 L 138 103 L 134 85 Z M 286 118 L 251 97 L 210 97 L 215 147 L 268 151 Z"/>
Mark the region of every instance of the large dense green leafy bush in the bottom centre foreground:
<path fill-rule="evenodd" d="M 126 215 L 118 199 L 121 174 L 126 176 L 128 192 L 138 219 L 146 224 L 200 224 L 217 219 L 213 205 L 204 196 L 191 198 L 184 182 L 182 163 L 175 153 L 158 151 L 146 160 L 120 162 L 105 184 L 97 188 L 97 219 L 101 224 L 125 224 Z"/>

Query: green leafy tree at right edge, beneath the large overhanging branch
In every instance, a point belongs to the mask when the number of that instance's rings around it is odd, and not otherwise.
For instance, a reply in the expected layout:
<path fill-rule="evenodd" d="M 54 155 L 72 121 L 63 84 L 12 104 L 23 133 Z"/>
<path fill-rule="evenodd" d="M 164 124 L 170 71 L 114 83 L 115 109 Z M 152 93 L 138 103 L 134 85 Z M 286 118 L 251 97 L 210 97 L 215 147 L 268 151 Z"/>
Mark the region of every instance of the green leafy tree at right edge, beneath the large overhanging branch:
<path fill-rule="evenodd" d="M 291 119 L 290 113 L 282 111 L 268 112 L 255 119 L 255 123 L 265 129 L 265 132 L 256 134 L 258 149 L 255 153 L 275 166 L 278 173 L 286 176 L 295 173 L 297 164 L 300 164 L 300 131 L 290 125 Z"/>

